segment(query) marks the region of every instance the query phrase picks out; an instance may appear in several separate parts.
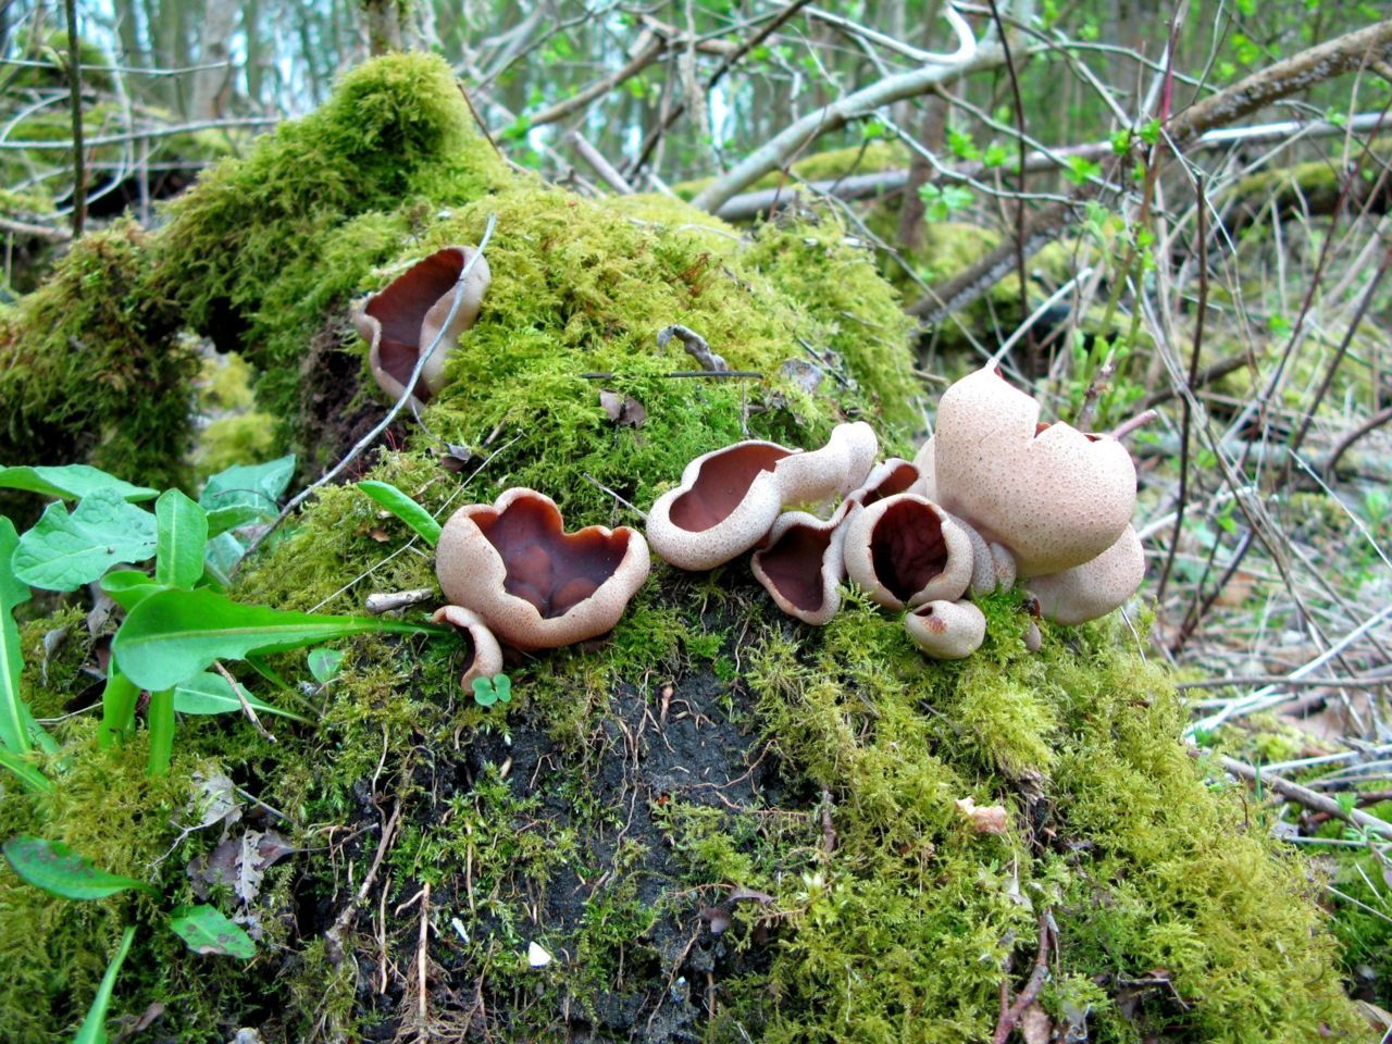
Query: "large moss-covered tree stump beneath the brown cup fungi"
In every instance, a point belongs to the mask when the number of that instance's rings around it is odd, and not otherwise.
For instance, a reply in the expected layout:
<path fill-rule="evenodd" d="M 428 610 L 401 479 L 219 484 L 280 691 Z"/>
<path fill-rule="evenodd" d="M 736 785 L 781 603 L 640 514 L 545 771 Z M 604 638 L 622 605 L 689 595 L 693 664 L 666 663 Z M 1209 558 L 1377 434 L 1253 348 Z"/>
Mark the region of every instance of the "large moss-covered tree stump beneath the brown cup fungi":
<path fill-rule="evenodd" d="M 635 217 L 576 199 L 497 170 L 462 109 L 464 129 L 405 149 L 398 185 L 429 181 L 429 205 L 365 210 L 334 182 L 359 171 L 335 152 L 361 148 L 345 114 L 376 134 L 367 116 L 397 106 L 400 129 L 416 111 L 402 84 L 427 107 L 452 97 L 438 63 L 369 65 L 324 113 L 220 168 L 170 226 L 202 244 L 185 305 L 198 322 L 238 316 L 263 401 L 303 401 L 313 381 L 287 363 L 317 330 L 323 354 L 308 358 L 351 361 L 351 394 L 380 415 L 358 388 L 362 345 L 335 333 L 344 302 L 477 242 L 493 214 L 493 287 L 423 413 L 429 433 L 411 429 L 370 470 L 437 516 L 530 484 L 571 528 L 635 523 L 614 493 L 647 507 L 696 454 L 745 434 L 812 447 L 846 416 L 909 448 L 906 326 L 838 226 L 739 239 L 677 203 Z M 258 185 L 276 185 L 259 178 L 299 168 L 327 184 L 263 205 Z M 245 267 L 210 253 L 238 235 L 238 192 Z M 316 193 L 333 220 L 312 213 Z M 670 323 L 761 377 L 671 376 L 692 363 L 657 347 Z M 603 390 L 642 419 L 611 419 Z M 348 612 L 374 590 L 433 585 L 429 548 L 331 487 L 234 593 Z M 40 717 L 95 699 L 84 608 L 25 628 Z M 263 715 L 271 742 L 231 715 L 187 718 L 163 781 L 141 771 L 143 734 L 109 754 L 90 714 L 58 721 L 56 789 L 7 792 L 0 835 L 64 841 L 164 899 L 67 903 L 0 870 L 0 1038 L 70 1038 L 128 923 L 114 1013 L 155 1018 L 171 1040 L 981 1041 L 1041 952 L 1030 1018 L 1059 1040 L 1356 1033 L 1320 878 L 1190 759 L 1143 638 L 1115 618 L 1050 629 L 1029 654 L 1019 594 L 986 610 L 986 646 L 935 664 L 853 592 L 814 629 L 782 618 L 748 564 L 658 567 L 612 635 L 516 657 L 509 704 L 461 692 L 455 639 L 372 638 L 345 643 L 327 683 L 301 656 L 271 664 L 290 690 L 245 671 L 308 721 Z M 61 625 L 67 644 L 46 653 Z M 209 792 L 239 818 L 210 820 L 193 802 Z M 999 830 L 966 799 L 998 806 Z M 248 831 L 284 838 L 251 885 L 235 862 L 260 851 Z M 193 902 L 195 883 L 258 937 L 253 960 L 193 956 L 167 931 L 160 910 Z"/>

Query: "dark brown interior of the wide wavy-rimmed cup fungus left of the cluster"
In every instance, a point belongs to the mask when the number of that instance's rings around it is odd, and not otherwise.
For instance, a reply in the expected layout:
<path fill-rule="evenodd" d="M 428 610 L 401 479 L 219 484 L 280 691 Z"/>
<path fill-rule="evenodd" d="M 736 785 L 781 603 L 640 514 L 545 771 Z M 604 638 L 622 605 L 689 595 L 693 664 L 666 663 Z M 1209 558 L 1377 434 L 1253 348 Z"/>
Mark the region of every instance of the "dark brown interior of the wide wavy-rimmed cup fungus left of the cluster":
<path fill-rule="evenodd" d="M 473 523 L 503 560 L 508 594 L 530 601 L 546 619 L 590 597 L 628 553 L 626 532 L 604 536 L 590 528 L 567 536 L 560 514 L 532 497 L 503 514 L 480 512 Z"/>

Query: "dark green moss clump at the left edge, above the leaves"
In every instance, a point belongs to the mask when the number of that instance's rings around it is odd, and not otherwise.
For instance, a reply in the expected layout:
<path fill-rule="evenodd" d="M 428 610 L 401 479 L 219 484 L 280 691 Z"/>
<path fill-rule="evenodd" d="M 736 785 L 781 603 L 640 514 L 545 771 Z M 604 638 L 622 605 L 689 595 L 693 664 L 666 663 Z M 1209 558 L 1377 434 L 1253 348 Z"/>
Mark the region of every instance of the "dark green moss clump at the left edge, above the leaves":
<path fill-rule="evenodd" d="M 88 235 L 0 319 L 0 464 L 184 477 L 198 366 L 177 313 L 143 287 L 149 249 L 132 221 Z"/>

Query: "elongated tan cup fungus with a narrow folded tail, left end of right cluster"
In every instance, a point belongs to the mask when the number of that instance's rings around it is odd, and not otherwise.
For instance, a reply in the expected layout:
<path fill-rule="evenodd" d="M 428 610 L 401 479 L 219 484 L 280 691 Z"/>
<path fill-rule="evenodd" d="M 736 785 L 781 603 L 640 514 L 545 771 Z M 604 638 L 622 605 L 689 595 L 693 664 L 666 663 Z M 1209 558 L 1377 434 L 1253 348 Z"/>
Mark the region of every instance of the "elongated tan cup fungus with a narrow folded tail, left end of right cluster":
<path fill-rule="evenodd" d="M 876 452 L 864 422 L 837 425 L 821 450 L 745 441 L 702 454 L 677 489 L 647 512 L 657 555 L 682 569 L 713 569 L 760 543 L 785 507 L 855 489 Z"/>

